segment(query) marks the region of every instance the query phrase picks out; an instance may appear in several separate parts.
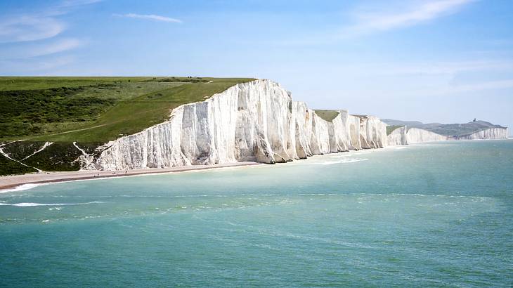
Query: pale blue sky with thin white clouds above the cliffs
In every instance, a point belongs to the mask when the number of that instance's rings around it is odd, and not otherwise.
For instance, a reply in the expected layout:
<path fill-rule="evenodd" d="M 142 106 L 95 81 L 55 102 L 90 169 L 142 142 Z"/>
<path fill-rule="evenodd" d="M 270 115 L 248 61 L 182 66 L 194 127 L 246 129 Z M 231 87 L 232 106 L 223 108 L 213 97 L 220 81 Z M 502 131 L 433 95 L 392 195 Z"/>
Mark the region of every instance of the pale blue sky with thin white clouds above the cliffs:
<path fill-rule="evenodd" d="M 256 77 L 314 109 L 513 127 L 513 1 L 4 0 L 0 75 Z"/>

